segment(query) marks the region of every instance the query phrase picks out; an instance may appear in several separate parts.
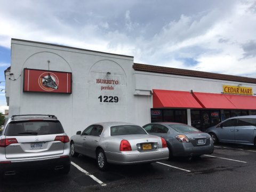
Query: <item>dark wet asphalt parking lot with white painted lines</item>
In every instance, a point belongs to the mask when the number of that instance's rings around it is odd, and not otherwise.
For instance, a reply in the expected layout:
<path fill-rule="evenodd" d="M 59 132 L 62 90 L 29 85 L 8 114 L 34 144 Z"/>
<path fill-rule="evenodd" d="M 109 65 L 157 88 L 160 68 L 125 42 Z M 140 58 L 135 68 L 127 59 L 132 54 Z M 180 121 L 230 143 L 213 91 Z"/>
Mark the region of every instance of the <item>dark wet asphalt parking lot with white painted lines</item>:
<path fill-rule="evenodd" d="M 0 191 L 256 191 L 256 147 L 221 144 L 194 159 L 174 158 L 149 165 L 110 165 L 71 157 L 67 175 L 33 171 L 4 178 Z"/>

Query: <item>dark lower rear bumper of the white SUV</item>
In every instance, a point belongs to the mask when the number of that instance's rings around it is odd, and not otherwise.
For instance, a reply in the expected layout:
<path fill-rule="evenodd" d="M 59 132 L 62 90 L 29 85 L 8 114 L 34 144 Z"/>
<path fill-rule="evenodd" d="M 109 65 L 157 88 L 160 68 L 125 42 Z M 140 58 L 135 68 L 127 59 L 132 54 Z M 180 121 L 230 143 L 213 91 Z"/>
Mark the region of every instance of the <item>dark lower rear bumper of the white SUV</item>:
<path fill-rule="evenodd" d="M 9 175 L 33 170 L 63 170 L 69 169 L 69 156 L 53 157 L 47 159 L 36 159 L 29 161 L 8 161 L 0 163 L 0 173 Z"/>

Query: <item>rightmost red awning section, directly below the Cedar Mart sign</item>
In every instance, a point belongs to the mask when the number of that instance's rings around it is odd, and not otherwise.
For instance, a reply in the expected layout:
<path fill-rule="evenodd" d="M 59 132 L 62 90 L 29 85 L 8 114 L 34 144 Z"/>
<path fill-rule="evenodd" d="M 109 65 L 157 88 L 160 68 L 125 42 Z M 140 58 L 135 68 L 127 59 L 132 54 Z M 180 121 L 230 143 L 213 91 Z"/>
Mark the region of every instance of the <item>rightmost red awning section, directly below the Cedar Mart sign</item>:
<path fill-rule="evenodd" d="M 256 109 L 255 96 L 225 94 L 225 97 L 236 106 L 236 109 Z"/>

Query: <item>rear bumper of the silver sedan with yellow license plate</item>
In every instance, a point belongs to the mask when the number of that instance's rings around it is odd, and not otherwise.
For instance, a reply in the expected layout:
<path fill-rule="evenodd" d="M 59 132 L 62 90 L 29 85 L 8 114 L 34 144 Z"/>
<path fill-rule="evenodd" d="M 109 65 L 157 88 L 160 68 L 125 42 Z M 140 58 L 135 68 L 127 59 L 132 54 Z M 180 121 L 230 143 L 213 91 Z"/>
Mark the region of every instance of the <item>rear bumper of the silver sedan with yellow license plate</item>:
<path fill-rule="evenodd" d="M 169 158 L 169 149 L 161 148 L 156 151 L 123 151 L 121 153 L 111 153 L 105 151 L 108 163 L 114 164 L 139 164 L 151 163 Z"/>

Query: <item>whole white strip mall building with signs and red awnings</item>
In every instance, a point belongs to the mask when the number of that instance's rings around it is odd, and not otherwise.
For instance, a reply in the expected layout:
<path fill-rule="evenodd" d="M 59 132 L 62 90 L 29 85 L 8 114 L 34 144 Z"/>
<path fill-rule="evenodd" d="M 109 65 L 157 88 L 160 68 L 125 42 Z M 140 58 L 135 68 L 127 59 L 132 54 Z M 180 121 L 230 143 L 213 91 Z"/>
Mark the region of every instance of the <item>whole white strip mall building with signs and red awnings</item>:
<path fill-rule="evenodd" d="M 133 57 L 12 39 L 9 115 L 53 114 L 68 135 L 92 123 L 181 122 L 200 130 L 256 114 L 256 79 L 134 63 Z M 170 63 L 171 65 L 171 63 Z"/>

